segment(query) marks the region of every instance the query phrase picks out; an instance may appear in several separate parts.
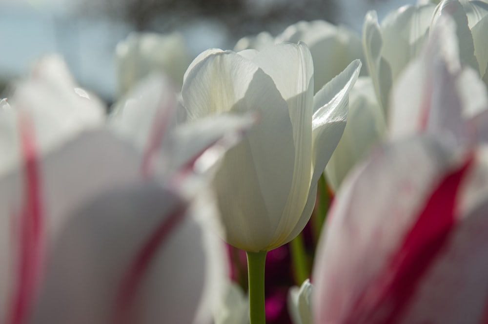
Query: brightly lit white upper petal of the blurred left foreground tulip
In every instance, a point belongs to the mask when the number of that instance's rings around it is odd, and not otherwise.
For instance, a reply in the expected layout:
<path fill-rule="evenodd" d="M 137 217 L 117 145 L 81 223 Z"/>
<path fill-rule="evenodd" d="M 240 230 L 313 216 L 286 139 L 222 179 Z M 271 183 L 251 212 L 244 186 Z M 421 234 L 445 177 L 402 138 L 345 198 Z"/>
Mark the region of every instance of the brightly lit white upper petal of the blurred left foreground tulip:
<path fill-rule="evenodd" d="M 20 163 L 17 134 L 20 122 L 35 120 L 32 132 L 38 150 L 48 152 L 83 130 L 99 127 L 104 120 L 102 102 L 78 88 L 57 56 L 41 58 L 31 76 L 16 86 L 10 105 L 2 102 L 0 176 Z M 5 109 L 7 106 L 14 107 L 18 113 Z M 27 116 L 20 121 L 17 114 Z"/>

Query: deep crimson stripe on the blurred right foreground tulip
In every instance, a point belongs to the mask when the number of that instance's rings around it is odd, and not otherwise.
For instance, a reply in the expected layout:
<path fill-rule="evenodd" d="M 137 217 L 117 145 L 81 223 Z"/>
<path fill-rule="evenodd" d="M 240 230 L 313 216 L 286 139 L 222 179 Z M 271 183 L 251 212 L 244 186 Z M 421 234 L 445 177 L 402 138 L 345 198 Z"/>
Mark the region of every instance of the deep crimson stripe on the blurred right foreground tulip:
<path fill-rule="evenodd" d="M 470 157 L 432 192 L 400 248 L 376 281 L 362 293 L 345 323 L 399 323 L 415 289 L 456 225 L 456 195 L 472 161 Z"/>

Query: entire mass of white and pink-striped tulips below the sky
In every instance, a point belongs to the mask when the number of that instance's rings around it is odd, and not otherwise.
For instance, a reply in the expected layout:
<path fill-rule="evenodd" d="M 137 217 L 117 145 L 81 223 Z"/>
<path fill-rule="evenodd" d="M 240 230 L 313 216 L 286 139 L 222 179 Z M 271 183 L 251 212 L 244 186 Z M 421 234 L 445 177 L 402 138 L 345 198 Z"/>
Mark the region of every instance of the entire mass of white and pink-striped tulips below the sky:
<path fill-rule="evenodd" d="M 486 323 L 487 14 L 422 1 L 191 63 L 133 34 L 108 109 L 41 58 L 0 101 L 1 323 L 271 324 L 286 300 L 294 324 Z"/>

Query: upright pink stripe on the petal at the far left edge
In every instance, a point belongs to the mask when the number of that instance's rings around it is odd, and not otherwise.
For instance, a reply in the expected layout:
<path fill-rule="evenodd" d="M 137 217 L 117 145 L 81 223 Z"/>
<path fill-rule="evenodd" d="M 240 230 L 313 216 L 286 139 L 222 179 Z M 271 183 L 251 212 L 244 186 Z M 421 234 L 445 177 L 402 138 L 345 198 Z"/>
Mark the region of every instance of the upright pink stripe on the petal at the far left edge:
<path fill-rule="evenodd" d="M 39 161 L 33 127 L 25 115 L 19 117 L 20 144 L 24 171 L 24 206 L 20 213 L 20 256 L 17 285 L 7 324 L 21 324 L 33 302 L 41 269 L 43 216 Z"/>

